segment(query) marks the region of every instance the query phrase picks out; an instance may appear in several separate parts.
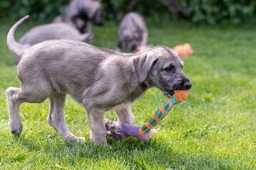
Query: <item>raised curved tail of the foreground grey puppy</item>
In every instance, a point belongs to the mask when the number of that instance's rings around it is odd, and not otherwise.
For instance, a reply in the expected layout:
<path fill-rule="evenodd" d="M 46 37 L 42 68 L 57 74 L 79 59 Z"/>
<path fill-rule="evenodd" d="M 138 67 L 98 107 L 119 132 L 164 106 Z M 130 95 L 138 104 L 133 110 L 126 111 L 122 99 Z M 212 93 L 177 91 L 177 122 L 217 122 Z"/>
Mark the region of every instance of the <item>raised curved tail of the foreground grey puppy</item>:
<path fill-rule="evenodd" d="M 21 54 L 26 49 L 26 47 L 23 47 L 21 44 L 16 42 L 16 40 L 14 39 L 14 33 L 16 32 L 17 28 L 27 20 L 28 17 L 29 16 L 24 16 L 18 22 L 16 22 L 14 26 L 11 27 L 7 35 L 7 45 L 9 47 L 9 50 L 14 54 L 17 64 L 21 60 Z"/>

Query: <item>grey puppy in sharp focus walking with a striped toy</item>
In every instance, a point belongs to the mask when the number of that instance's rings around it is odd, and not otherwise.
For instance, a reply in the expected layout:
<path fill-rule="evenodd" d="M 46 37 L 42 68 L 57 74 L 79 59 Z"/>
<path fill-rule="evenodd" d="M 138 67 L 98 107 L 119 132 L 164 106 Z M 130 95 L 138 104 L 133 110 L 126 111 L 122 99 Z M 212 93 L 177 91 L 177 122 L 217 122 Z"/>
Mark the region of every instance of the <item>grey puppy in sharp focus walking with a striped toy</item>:
<path fill-rule="evenodd" d="M 87 111 L 92 141 L 107 145 L 105 111 L 116 111 L 119 123 L 132 125 L 131 103 L 146 91 L 140 84 L 156 86 L 167 96 L 176 89 L 191 88 L 182 72 L 183 62 L 169 47 L 122 54 L 76 40 L 48 40 L 26 48 L 14 39 L 26 18 L 14 24 L 7 35 L 22 84 L 6 90 L 9 125 L 16 135 L 22 131 L 21 103 L 41 103 L 49 98 L 48 123 L 68 142 L 82 140 L 65 123 L 65 96 L 70 94 Z"/>

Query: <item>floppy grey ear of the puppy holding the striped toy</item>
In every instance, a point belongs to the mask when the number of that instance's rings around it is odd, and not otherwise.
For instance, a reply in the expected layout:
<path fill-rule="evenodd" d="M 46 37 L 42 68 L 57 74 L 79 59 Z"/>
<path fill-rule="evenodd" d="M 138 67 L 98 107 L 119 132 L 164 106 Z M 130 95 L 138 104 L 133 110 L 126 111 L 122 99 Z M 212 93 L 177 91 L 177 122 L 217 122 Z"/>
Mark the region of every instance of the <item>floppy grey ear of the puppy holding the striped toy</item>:
<path fill-rule="evenodd" d="M 134 58 L 134 68 L 138 77 L 138 83 L 146 81 L 153 63 L 157 60 L 154 52 L 147 52 Z"/>

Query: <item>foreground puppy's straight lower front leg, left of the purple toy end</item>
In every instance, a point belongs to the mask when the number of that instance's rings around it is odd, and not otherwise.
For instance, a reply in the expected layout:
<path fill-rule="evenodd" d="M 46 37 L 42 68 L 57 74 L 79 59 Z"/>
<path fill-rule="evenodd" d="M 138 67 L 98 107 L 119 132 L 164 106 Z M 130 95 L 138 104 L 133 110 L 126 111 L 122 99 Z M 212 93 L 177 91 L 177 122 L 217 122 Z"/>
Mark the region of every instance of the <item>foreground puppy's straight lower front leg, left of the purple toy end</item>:
<path fill-rule="evenodd" d="M 104 112 L 93 110 L 88 111 L 87 114 L 90 125 L 90 139 L 96 145 L 107 145 Z"/>

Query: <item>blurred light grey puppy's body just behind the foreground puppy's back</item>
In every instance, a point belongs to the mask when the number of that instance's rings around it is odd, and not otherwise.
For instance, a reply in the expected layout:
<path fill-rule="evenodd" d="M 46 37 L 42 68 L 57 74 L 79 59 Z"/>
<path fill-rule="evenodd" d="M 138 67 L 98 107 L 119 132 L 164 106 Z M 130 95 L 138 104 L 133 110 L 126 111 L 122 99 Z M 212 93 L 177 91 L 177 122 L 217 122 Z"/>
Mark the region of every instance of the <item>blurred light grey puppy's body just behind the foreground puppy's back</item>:
<path fill-rule="evenodd" d="M 73 26 L 70 26 L 68 23 L 48 23 L 28 30 L 18 43 L 31 46 L 45 40 L 67 39 L 87 41 L 88 36 L 88 33 L 81 34 L 76 28 L 73 28 Z"/>

